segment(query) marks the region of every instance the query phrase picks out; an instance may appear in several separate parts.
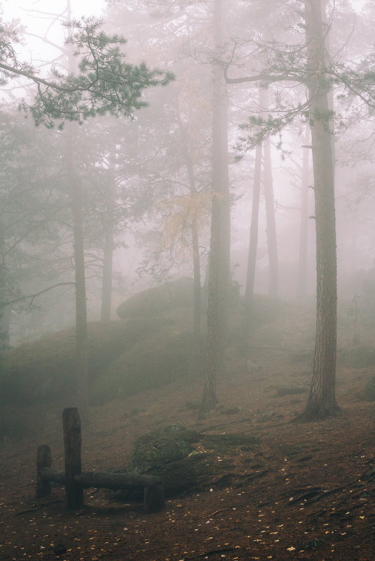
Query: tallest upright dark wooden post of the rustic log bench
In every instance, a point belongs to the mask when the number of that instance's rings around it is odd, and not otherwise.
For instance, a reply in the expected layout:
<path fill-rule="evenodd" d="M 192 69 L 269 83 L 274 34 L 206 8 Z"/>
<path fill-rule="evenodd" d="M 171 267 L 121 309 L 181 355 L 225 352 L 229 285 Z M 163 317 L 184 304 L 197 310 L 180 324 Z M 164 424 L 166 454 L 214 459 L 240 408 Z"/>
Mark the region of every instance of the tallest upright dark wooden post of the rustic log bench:
<path fill-rule="evenodd" d="M 69 407 L 62 412 L 65 452 L 65 493 L 67 506 L 77 511 L 84 506 L 83 488 L 76 483 L 74 476 L 82 471 L 81 466 L 81 419 L 76 407 Z"/>

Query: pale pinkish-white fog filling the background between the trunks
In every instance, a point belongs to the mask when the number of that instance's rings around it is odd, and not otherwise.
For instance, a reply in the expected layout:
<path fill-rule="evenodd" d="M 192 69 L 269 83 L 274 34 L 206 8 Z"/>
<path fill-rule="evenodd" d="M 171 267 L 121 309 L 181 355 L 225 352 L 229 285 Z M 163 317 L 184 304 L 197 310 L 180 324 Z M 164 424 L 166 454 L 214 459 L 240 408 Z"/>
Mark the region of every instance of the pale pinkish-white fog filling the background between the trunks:
<path fill-rule="evenodd" d="M 62 75 L 68 71 L 69 46 L 63 46 L 61 36 L 67 29 L 60 29 L 69 17 L 89 17 L 91 13 L 88 3 L 61 4 L 58 15 L 50 13 L 50 6 L 46 13 L 39 5 L 21 13 L 18 25 L 27 27 L 20 28 L 22 39 L 14 43 L 10 56 L 17 58 L 19 67 L 27 60 L 32 65 L 30 74 L 53 79 L 51 71 Z M 101 6 L 93 6 L 105 32 L 125 37 L 121 50 L 129 62 L 144 60 L 149 68 L 160 69 L 161 76 L 174 74 L 167 85 L 145 87 L 141 98 L 147 106 L 132 108 L 128 116 L 111 116 L 107 111 L 104 116 L 81 119 L 80 125 L 65 125 L 64 130 L 59 129 L 64 119 L 52 116 L 44 123 L 52 128 L 43 123 L 35 128 L 32 116 L 25 118 L 27 111 L 17 109 L 20 99 L 32 106 L 35 84 L 27 77 L 4 74 L 1 301 L 5 305 L 4 338 L 11 346 L 74 325 L 74 242 L 64 171 L 67 135 L 74 146 L 74 167 L 82 187 L 88 319 L 100 319 L 103 298 L 110 299 L 111 319 L 116 319 L 118 305 L 133 294 L 170 279 L 192 277 L 192 224 L 198 235 L 201 283 L 207 282 L 214 191 L 212 6 L 210 2 L 182 1 L 138 4 L 103 1 Z M 267 64 L 275 64 L 271 47 L 283 46 L 285 54 L 303 43 L 303 22 L 293 3 L 272 4 L 271 15 L 257 3 L 229 2 L 226 6 L 221 29 L 226 76 L 261 74 Z M 362 71 L 361 61 L 371 56 L 372 11 L 371 4 L 354 1 L 327 4 L 330 63 L 332 67 L 336 64 L 337 73 Z M 7 34 L 16 29 L 11 18 L 18 13 L 15 6 L 4 4 L 4 46 L 8 37 L 13 40 Z M 285 54 L 282 64 L 285 68 L 289 64 L 288 72 L 293 62 Z M 297 71 L 301 61 L 294 64 Z M 227 83 L 224 94 L 231 279 L 244 293 L 254 193 L 254 134 L 265 129 L 272 116 L 280 123 L 273 123 L 279 130 L 275 134 L 271 127 L 263 140 L 254 292 L 271 291 L 282 299 L 314 298 L 313 174 L 311 149 L 304 148 L 311 142 L 304 113 L 306 85 L 297 80 L 272 81 L 266 102 L 259 100 L 262 86 L 260 78 Z M 336 83 L 332 89 L 335 118 L 329 126 L 336 133 L 337 278 L 339 298 L 349 300 L 355 294 L 362 296 L 363 278 L 374 260 L 371 99 L 368 92 L 355 96 L 350 88 Z M 263 124 L 254 118 L 264 119 Z M 271 189 L 268 210 L 265 189 Z M 271 241 L 270 220 L 275 221 Z M 271 273 L 270 243 L 276 248 Z M 103 273 L 105 267 L 107 273 Z M 109 296 L 103 293 L 103 274 L 111 275 L 105 281 Z M 278 275 L 272 289 L 270 274 Z"/>

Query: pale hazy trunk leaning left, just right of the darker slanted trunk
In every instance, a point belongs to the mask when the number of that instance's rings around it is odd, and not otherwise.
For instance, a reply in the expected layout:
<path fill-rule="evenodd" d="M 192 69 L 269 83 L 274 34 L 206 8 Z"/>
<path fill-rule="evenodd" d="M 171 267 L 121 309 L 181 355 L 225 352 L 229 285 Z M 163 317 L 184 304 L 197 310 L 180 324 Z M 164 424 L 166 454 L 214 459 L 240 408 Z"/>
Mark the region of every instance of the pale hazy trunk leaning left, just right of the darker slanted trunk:
<path fill-rule="evenodd" d="M 268 89 L 262 90 L 262 106 L 268 117 Z M 264 199 L 266 201 L 267 247 L 268 247 L 268 295 L 278 296 L 278 240 L 276 236 L 275 199 L 273 197 L 271 144 L 263 145 L 264 153 Z"/>

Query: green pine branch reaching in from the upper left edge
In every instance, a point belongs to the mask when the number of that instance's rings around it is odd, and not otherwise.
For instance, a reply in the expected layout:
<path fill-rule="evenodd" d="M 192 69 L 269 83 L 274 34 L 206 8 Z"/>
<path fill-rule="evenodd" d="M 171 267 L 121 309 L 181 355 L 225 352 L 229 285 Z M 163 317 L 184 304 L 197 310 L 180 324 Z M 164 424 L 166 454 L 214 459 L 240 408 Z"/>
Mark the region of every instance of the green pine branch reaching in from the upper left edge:
<path fill-rule="evenodd" d="M 36 84 L 33 102 L 22 102 L 36 125 L 60 127 L 65 120 L 82 123 L 90 117 L 104 115 L 132 116 L 135 109 L 147 105 L 142 99 L 145 88 L 167 85 L 173 74 L 149 69 L 146 63 L 130 64 L 121 50 L 126 41 L 102 31 L 102 22 L 83 18 L 67 23 L 67 46 L 74 50 L 78 62 L 76 74 L 53 71 L 51 78 L 42 78 L 30 64 L 21 63 L 14 50 L 19 41 L 18 29 L 0 27 L 0 76 L 5 84 L 12 76 L 22 76 Z"/>

